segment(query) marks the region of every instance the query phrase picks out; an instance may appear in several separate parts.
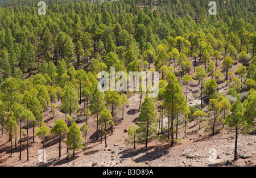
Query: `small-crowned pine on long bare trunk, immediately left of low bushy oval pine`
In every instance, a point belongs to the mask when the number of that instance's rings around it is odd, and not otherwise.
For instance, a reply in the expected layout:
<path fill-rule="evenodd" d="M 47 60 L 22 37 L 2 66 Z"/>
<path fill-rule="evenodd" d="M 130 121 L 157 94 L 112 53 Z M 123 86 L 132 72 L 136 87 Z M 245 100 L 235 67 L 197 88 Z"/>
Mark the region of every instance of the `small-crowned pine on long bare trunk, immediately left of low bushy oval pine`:
<path fill-rule="evenodd" d="M 51 130 L 52 134 L 59 135 L 59 159 L 61 159 L 61 134 L 68 132 L 68 126 L 65 121 L 58 119 Z"/>

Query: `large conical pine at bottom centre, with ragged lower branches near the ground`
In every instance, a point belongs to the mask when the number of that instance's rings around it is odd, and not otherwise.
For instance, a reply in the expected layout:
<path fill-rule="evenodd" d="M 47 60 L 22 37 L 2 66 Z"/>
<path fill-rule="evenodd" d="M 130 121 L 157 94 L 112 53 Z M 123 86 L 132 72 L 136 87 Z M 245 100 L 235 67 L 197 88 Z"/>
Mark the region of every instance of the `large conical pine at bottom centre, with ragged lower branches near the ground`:
<path fill-rule="evenodd" d="M 146 96 L 141 106 L 141 113 L 138 118 L 138 140 L 148 145 L 149 139 L 157 137 L 158 116 L 154 101 Z"/>

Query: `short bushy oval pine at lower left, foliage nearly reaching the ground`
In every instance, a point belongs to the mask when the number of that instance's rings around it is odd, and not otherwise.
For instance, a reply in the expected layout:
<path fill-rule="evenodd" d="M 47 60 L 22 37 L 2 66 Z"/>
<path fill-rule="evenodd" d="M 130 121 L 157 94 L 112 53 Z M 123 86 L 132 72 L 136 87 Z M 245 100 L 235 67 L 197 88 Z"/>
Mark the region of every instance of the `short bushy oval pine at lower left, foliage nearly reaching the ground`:
<path fill-rule="evenodd" d="M 68 130 L 67 145 L 73 149 L 73 158 L 75 158 L 75 150 L 82 149 L 82 134 L 76 122 L 73 122 Z"/>

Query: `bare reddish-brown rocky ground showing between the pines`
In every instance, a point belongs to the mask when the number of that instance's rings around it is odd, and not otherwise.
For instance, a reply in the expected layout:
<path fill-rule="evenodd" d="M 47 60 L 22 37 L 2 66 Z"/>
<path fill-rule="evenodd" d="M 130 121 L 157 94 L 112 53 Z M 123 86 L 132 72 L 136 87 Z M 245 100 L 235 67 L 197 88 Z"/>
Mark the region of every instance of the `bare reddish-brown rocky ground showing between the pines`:
<path fill-rule="evenodd" d="M 218 67 L 220 68 L 222 61 L 218 61 Z M 238 65 L 232 68 L 234 71 Z M 211 78 L 211 77 L 210 77 Z M 228 86 L 226 83 L 218 85 L 220 91 L 226 94 Z M 183 87 L 185 93 L 185 86 Z M 195 105 L 200 104 L 200 98 L 195 98 L 196 91 L 199 91 L 197 81 L 189 86 L 188 104 Z M 234 131 L 221 129 L 222 125 L 219 125 L 217 129 L 220 129 L 216 135 L 210 135 L 210 132 L 205 132 L 205 128 L 199 129 L 199 124 L 192 121 L 188 124 L 187 137 L 184 137 L 183 126 L 179 126 L 178 138 L 181 139 L 175 146 L 170 147 L 170 143 L 161 143 L 157 140 L 150 141 L 148 147 L 144 149 L 144 145 L 137 145 L 137 149 L 133 149 L 133 146 L 126 146 L 124 141 L 128 137 L 125 129 L 128 129 L 131 124 L 137 122 L 139 116 L 139 96 L 133 95 L 129 98 L 130 105 L 125 108 L 125 118 L 121 118 L 121 112 L 118 112 L 114 121 L 114 133 L 110 135 L 108 133 L 107 143 L 108 147 L 105 148 L 104 141 L 95 140 L 96 132 L 96 116 L 90 117 L 88 120 L 89 133 L 86 145 L 86 150 L 76 151 L 75 158 L 67 158 L 67 147 L 64 140 L 66 135 L 63 135 L 61 141 L 61 159 L 57 160 L 59 156 L 59 139 L 57 136 L 52 135 L 46 141 L 46 163 L 39 163 L 40 158 L 39 149 L 42 148 L 42 142 L 38 137 L 35 137 L 35 143 L 32 143 L 32 128 L 30 129 L 30 160 L 26 160 L 26 141 L 22 139 L 22 158 L 19 160 L 19 144 L 17 141 L 17 147 L 13 145 L 13 157 L 10 158 L 10 142 L 8 137 L 4 134 L 4 137 L 0 136 L 0 166 L 137 166 L 137 167 L 150 167 L 150 166 L 256 166 L 256 139 L 255 135 L 238 135 L 238 160 L 233 161 L 234 152 Z M 60 106 L 60 102 L 56 103 L 56 106 Z M 207 103 L 204 104 L 204 111 Z M 81 104 L 81 111 L 84 105 Z M 65 119 L 65 114 L 59 110 L 56 111 L 56 115 L 52 117 L 50 109 L 44 111 L 44 122 L 48 128 L 52 128 L 54 122 L 58 119 Z M 165 120 L 166 122 L 166 120 Z M 81 127 L 83 123 L 79 123 Z M 214 151 L 214 152 L 210 152 Z M 72 152 L 72 150 L 70 150 Z M 212 154 L 216 154 L 216 160 L 211 159 Z"/>

